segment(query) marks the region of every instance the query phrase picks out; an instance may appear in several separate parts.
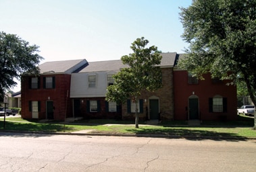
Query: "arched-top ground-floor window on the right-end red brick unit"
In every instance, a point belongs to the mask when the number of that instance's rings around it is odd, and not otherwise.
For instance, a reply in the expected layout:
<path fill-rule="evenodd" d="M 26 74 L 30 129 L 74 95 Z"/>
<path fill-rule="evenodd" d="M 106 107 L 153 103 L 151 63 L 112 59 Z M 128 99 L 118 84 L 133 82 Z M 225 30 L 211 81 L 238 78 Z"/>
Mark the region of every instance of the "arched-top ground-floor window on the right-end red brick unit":
<path fill-rule="evenodd" d="M 227 112 L 227 98 L 220 95 L 209 98 L 209 112 Z"/>

